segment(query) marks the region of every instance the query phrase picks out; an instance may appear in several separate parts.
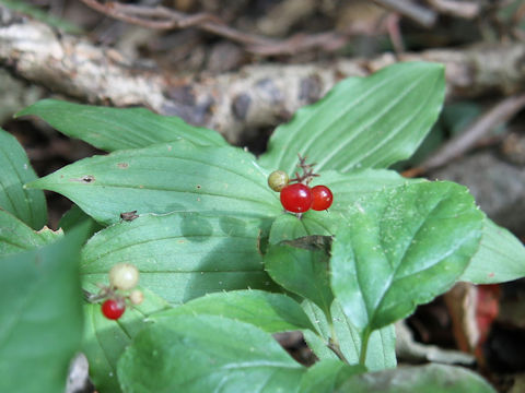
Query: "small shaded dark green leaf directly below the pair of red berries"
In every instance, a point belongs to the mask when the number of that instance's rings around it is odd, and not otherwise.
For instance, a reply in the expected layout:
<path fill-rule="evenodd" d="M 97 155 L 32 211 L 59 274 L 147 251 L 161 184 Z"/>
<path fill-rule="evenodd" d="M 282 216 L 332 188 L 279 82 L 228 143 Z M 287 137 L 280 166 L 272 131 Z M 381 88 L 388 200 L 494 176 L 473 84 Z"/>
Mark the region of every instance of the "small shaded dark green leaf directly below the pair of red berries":
<path fill-rule="evenodd" d="M 329 315 L 334 295 L 328 259 L 324 250 L 272 246 L 265 255 L 265 270 L 284 289 L 312 300 Z"/>

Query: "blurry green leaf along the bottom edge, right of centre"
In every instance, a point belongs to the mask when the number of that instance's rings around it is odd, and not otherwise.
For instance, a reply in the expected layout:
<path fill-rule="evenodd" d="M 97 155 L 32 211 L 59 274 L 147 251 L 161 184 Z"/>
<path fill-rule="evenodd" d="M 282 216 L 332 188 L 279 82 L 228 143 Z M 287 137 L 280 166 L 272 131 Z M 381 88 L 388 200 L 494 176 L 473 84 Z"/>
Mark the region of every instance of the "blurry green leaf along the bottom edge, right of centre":
<path fill-rule="evenodd" d="M 353 376 L 334 392 L 495 393 L 495 390 L 470 370 L 433 364 Z"/>

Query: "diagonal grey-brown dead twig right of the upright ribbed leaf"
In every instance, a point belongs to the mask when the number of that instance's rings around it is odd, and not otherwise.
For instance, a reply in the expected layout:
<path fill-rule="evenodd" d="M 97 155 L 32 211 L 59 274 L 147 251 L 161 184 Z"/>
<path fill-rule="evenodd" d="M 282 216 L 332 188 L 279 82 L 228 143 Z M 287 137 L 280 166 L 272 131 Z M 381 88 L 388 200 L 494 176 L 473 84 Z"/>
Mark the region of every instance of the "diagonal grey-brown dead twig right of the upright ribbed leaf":
<path fill-rule="evenodd" d="M 525 107 L 525 94 L 517 94 L 503 99 L 481 115 L 464 132 L 451 139 L 421 165 L 407 170 L 404 175 L 407 177 L 419 176 L 457 158 L 472 148 L 479 140 L 487 136 L 494 127 L 509 121 L 514 115 L 522 110 L 523 107 Z"/>

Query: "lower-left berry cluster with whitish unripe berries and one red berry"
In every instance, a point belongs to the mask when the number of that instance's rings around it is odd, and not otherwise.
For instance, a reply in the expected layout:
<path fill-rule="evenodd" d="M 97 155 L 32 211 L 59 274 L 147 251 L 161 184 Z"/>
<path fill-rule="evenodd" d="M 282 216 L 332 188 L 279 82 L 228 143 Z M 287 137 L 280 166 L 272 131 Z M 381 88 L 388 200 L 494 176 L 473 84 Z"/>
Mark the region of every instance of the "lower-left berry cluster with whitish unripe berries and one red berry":
<path fill-rule="evenodd" d="M 97 295 L 89 297 L 89 301 L 102 301 L 102 313 L 110 320 L 118 320 L 126 311 L 126 301 L 140 305 L 144 294 L 133 289 L 139 282 L 139 271 L 130 263 L 117 263 L 109 271 L 109 286 L 101 286 Z M 131 290 L 133 289 L 133 290 Z M 131 290 L 131 291 L 130 291 Z"/>

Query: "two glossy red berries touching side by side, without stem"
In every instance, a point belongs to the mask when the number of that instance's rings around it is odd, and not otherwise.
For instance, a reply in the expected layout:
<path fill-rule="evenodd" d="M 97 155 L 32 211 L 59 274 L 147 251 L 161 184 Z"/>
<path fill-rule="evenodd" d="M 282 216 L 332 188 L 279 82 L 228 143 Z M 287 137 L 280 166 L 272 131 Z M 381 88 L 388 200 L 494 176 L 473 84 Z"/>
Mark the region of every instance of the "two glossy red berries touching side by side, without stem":
<path fill-rule="evenodd" d="M 281 204 L 292 213 L 304 213 L 308 210 L 324 211 L 331 206 L 334 195 L 326 186 L 310 188 L 303 183 L 293 183 L 281 190 Z"/>

